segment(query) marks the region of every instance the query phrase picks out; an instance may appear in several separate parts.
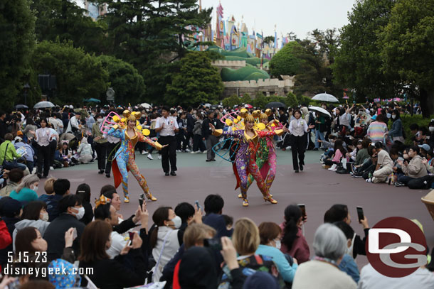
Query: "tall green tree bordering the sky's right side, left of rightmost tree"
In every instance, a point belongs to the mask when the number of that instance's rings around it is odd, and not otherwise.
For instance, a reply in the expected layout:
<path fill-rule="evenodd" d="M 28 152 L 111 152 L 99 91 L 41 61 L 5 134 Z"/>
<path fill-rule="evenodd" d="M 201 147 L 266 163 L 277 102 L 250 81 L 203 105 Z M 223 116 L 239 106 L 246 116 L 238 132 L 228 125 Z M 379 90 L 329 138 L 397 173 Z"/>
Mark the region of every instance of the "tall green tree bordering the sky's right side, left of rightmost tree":
<path fill-rule="evenodd" d="M 335 81 L 356 89 L 356 100 L 393 97 L 393 78 L 381 70 L 378 32 L 387 25 L 395 0 L 357 1 L 342 28 L 341 47 L 332 65 Z"/>

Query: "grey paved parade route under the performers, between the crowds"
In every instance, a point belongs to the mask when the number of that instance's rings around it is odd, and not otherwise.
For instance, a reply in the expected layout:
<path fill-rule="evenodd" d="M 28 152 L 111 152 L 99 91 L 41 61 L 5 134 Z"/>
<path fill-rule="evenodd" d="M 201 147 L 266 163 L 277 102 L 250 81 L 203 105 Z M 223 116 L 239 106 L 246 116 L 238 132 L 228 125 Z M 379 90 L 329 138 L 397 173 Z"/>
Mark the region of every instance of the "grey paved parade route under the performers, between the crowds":
<path fill-rule="evenodd" d="M 203 200 L 208 194 L 220 194 L 225 200 L 223 214 L 231 215 L 235 220 L 249 217 L 257 224 L 260 222 L 276 222 L 283 220 L 283 211 L 287 205 L 304 203 L 307 211 L 305 235 L 312 250 L 314 231 L 322 224 L 324 212 L 333 204 L 342 203 L 349 207 L 351 227 L 358 234 L 363 234 L 361 225 L 357 222 L 356 206 L 364 207 L 364 213 L 373 226 L 381 219 L 392 216 L 418 219 L 425 229 L 428 246 L 434 246 L 434 221 L 431 219 L 420 197 L 428 190 L 409 190 L 407 187 L 394 187 L 386 184 L 371 184 L 363 179 L 354 179 L 349 175 L 324 170 L 317 162 L 319 152 L 309 151 L 306 156 L 305 170 L 294 173 L 290 151 L 277 151 L 277 175 L 271 187 L 271 193 L 277 205 L 265 203 L 258 187 L 252 185 L 248 190 L 249 207 L 242 207 L 237 198 L 239 191 L 234 191 L 235 177 L 230 163 L 221 158 L 216 162 L 206 163 L 202 154 L 177 153 L 178 175 L 164 176 L 161 160 L 154 154 L 154 160 L 137 154 L 136 160 L 141 173 L 147 178 L 152 194 L 157 202 L 148 202 L 149 213 L 159 206 L 175 207 L 179 202 Z M 71 181 L 71 192 L 76 187 L 87 182 L 92 189 L 92 200 L 99 195 L 102 185 L 112 184 L 112 179 L 97 174 L 96 161 L 90 165 L 78 165 L 73 168 L 63 168 L 50 172 L 55 178 L 68 178 Z M 134 177 L 129 174 L 130 203 L 122 204 L 124 216 L 132 214 L 139 203 L 141 193 Z M 122 196 L 122 189 L 117 190 Z M 39 185 L 38 194 L 43 193 L 43 185 Z M 150 222 L 152 222 L 150 220 Z M 359 266 L 366 263 L 364 256 L 356 259 Z"/>

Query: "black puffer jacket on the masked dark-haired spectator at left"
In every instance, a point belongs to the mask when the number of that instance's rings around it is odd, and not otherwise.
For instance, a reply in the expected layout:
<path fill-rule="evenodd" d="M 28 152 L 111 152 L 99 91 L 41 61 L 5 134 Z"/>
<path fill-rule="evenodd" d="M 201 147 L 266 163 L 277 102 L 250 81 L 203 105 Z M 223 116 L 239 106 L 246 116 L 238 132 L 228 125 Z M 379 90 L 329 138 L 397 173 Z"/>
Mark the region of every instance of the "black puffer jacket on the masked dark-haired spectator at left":
<path fill-rule="evenodd" d="M 46 232 L 43 234 L 43 239 L 46 239 L 48 244 L 48 260 L 54 260 L 62 256 L 65 248 L 65 232 L 70 228 L 77 229 L 77 238 L 74 240 L 73 249 L 75 256 L 80 254 L 80 236 L 85 229 L 85 224 L 72 214 L 62 213 L 48 225 Z"/>

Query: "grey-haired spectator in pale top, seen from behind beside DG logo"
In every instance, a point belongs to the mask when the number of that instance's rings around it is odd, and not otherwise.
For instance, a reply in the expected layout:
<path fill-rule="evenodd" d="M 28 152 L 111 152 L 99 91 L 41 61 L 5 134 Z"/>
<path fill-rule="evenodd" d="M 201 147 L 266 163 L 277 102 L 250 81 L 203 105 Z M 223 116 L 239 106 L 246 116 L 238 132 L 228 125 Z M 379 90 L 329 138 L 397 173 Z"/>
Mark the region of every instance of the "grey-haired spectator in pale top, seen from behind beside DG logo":
<path fill-rule="evenodd" d="M 293 289 L 356 289 L 350 276 L 337 267 L 346 252 L 346 238 L 333 224 L 322 224 L 314 235 L 315 256 L 297 268 Z"/>

